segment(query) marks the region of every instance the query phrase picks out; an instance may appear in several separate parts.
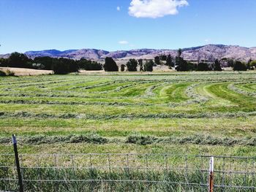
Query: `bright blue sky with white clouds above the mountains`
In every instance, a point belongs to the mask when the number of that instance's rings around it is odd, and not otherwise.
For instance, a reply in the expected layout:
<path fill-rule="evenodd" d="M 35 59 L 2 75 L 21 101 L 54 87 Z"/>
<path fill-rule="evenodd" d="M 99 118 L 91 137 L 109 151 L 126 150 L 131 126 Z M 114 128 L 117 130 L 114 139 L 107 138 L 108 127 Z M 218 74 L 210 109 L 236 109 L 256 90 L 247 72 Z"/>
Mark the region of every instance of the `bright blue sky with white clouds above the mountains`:
<path fill-rule="evenodd" d="M 0 0 L 0 53 L 256 46 L 256 0 Z"/>

